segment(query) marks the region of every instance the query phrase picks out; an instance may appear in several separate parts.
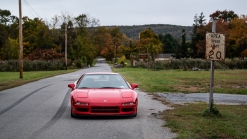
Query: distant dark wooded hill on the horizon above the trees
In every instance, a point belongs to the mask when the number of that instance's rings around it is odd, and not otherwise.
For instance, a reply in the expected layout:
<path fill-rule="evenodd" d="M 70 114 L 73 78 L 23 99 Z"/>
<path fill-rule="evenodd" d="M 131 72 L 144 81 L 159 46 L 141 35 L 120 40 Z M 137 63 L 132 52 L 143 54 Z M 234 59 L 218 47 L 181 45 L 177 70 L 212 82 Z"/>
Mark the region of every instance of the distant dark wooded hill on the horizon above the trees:
<path fill-rule="evenodd" d="M 123 34 L 126 34 L 128 38 L 137 40 L 139 33 L 143 30 L 150 28 L 155 34 L 171 34 L 174 38 L 181 38 L 182 30 L 184 29 L 187 34 L 187 40 L 190 40 L 190 34 L 192 33 L 192 26 L 178 26 L 168 24 L 150 24 L 150 25 L 133 25 L 133 26 L 105 26 L 105 27 L 118 27 Z"/>

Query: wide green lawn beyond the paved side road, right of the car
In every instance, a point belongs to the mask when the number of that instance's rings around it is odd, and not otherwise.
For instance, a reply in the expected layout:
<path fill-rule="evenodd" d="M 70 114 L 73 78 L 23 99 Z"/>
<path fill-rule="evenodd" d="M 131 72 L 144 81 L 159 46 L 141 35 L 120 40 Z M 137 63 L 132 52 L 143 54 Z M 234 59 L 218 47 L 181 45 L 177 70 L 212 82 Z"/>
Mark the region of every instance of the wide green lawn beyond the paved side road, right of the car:
<path fill-rule="evenodd" d="M 130 83 L 138 83 L 147 92 L 209 92 L 210 71 L 160 70 L 141 68 L 113 68 Z M 246 70 L 215 70 L 214 92 L 247 94 Z"/>

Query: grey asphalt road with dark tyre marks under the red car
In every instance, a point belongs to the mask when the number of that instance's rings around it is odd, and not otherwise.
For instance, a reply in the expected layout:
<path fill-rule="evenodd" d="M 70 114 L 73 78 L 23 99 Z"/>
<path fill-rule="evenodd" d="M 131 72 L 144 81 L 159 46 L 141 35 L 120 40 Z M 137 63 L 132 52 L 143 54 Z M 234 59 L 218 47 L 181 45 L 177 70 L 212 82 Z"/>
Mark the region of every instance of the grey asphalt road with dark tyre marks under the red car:
<path fill-rule="evenodd" d="M 138 115 L 71 118 L 68 83 L 85 72 L 111 71 L 104 62 L 77 72 L 42 79 L 0 92 L 0 139 L 170 139 L 159 119 L 169 107 L 139 94 Z M 25 75 L 24 75 L 25 77 Z"/>

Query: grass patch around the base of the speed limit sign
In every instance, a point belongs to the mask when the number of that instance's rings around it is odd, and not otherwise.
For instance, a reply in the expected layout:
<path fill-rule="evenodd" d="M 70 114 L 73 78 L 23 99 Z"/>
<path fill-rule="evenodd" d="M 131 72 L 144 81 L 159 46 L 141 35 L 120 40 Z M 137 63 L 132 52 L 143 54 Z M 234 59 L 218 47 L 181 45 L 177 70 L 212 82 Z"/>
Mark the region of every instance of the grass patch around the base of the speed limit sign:
<path fill-rule="evenodd" d="M 247 107 L 217 106 L 222 116 L 202 115 L 206 104 L 176 105 L 164 112 L 167 127 L 178 139 L 246 139 Z"/>

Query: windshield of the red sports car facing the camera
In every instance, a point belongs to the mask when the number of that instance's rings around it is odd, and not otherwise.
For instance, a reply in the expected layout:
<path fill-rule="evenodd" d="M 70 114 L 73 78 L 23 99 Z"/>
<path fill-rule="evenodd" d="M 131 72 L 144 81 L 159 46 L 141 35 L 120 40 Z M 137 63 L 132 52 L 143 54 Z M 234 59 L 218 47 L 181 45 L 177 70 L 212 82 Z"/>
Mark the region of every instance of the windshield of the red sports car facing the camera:
<path fill-rule="evenodd" d="M 80 81 L 78 88 L 129 88 L 126 81 L 119 74 L 86 74 Z"/>

